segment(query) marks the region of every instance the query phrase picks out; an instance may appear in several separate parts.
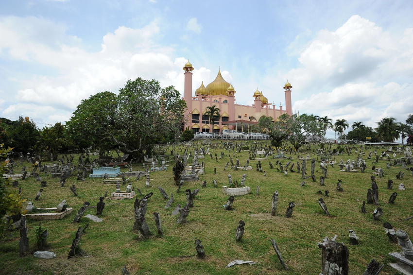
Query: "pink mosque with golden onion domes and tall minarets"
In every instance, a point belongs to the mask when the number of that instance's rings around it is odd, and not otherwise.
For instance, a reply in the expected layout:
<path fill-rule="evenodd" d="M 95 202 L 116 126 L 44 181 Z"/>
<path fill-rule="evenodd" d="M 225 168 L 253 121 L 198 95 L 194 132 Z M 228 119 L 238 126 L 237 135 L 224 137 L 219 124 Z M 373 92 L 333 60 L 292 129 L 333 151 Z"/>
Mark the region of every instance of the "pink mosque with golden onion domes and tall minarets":
<path fill-rule="evenodd" d="M 185 112 L 187 123 L 185 128 L 189 126 L 194 133 L 208 132 L 220 133 L 224 129 L 235 129 L 238 132 L 249 132 L 252 124 L 257 124 L 262 116 L 272 117 L 276 120 L 282 114 L 292 115 L 291 104 L 291 86 L 290 83 L 284 85 L 285 93 L 285 110 L 282 106 L 271 107 L 271 103 L 262 94 L 262 91 L 257 90 L 253 93 L 254 104 L 241 105 L 235 103 L 235 89 L 226 82 L 221 75 L 221 70 L 218 70 L 218 75 L 214 81 L 195 90 L 195 96 L 192 94 L 192 64 L 185 64 L 183 68 L 185 73 L 184 84 L 184 100 L 187 103 L 187 111 Z M 209 124 L 208 116 L 204 115 L 206 107 L 216 105 L 220 109 L 221 118 L 215 120 L 213 129 Z"/>

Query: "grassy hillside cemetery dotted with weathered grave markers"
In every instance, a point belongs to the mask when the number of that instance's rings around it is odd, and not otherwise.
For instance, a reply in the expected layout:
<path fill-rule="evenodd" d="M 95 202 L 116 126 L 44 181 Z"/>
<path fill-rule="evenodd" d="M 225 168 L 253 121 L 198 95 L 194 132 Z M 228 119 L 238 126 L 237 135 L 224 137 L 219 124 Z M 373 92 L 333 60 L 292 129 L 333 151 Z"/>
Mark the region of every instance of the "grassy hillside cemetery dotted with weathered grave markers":
<path fill-rule="evenodd" d="M 192 140 L 140 162 L 77 153 L 67 169 L 16 159 L 4 175 L 27 213 L 0 241 L 0 273 L 413 274 L 411 148 L 289 146 Z"/>

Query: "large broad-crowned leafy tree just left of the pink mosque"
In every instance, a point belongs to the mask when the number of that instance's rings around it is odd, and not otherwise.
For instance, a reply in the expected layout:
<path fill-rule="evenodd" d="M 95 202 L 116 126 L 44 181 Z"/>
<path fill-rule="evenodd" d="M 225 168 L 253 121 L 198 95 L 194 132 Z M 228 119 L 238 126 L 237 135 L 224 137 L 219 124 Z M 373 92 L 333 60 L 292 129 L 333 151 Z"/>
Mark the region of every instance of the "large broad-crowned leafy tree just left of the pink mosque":
<path fill-rule="evenodd" d="M 156 80 L 137 78 L 127 81 L 118 95 L 103 92 L 83 100 L 66 125 L 75 143 L 93 144 L 100 154 L 117 147 L 141 159 L 163 137 L 180 135 L 185 109 L 172 86 L 161 88 Z"/>

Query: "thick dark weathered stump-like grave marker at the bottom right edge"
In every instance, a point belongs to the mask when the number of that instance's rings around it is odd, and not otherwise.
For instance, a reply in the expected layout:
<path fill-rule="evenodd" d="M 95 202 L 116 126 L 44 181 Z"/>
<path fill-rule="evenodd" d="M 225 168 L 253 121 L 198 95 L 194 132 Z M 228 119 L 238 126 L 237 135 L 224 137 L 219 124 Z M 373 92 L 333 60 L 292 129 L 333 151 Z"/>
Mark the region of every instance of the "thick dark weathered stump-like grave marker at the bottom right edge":
<path fill-rule="evenodd" d="M 325 240 L 322 249 L 322 275 L 348 275 L 348 248 L 343 243 Z"/>

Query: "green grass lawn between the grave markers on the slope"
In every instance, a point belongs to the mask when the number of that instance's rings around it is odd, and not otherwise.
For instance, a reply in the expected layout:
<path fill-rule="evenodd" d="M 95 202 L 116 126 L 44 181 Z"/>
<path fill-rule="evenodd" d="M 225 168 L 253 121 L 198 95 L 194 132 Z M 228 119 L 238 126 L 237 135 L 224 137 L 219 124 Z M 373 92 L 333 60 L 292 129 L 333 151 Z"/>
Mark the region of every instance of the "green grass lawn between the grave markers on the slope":
<path fill-rule="evenodd" d="M 234 141 L 232 143 L 241 143 Z M 249 146 L 261 144 L 268 147 L 268 141 L 244 141 Z M 220 141 L 220 146 L 221 141 Z M 201 141 L 192 143 L 198 148 L 203 145 Z M 287 145 L 288 146 L 288 145 Z M 335 145 L 332 145 L 331 150 Z M 352 147 L 352 145 L 349 145 Z M 327 145 L 326 145 L 327 147 Z M 364 147 L 364 146 L 363 146 Z M 182 148 L 182 146 L 180 147 Z M 307 150 L 307 145 L 301 148 L 300 155 L 310 154 L 311 158 L 317 159 L 313 149 L 318 146 L 311 145 Z M 356 148 L 360 148 L 357 145 Z M 180 150 L 176 147 L 177 152 Z M 115 191 L 115 184 L 104 184 L 101 178 L 87 178 L 86 182 L 77 181 L 75 176 L 66 180 L 65 187 L 61 188 L 59 178 L 52 178 L 50 175 L 42 173 L 40 176 L 47 181 L 47 187 L 43 188 L 43 193 L 38 201 L 34 201 L 37 191 L 41 188 L 40 182 L 36 182 L 34 177 L 19 180 L 22 189 L 22 197 L 34 202 L 36 207 L 56 207 L 62 200 L 66 199 L 69 207 L 73 207 L 73 212 L 62 220 L 41 221 L 41 225 L 48 229 L 50 243 L 49 251 L 53 251 L 57 257 L 53 259 L 34 258 L 28 255 L 20 258 L 18 253 L 19 231 L 9 233 L 6 241 L 0 242 L 0 274 L 121 274 L 120 269 L 126 265 L 131 274 L 289 274 L 289 275 L 318 275 L 321 272 L 321 249 L 317 242 L 328 236 L 330 239 L 338 235 L 336 241 L 344 242 L 349 249 L 349 274 L 362 274 L 372 259 L 376 259 L 385 266 L 380 274 L 396 275 L 387 264 L 393 262 L 388 255 L 389 252 L 401 251 L 401 247 L 392 243 L 384 229 L 383 223 L 389 222 L 397 230 L 401 228 L 413 237 L 413 219 L 404 221 L 413 215 L 413 176 L 411 172 L 405 171 L 401 166 L 391 166 L 386 169 L 387 158 L 379 160 L 376 168 L 382 168 L 384 177 L 376 176 L 379 186 L 379 207 L 383 209 L 380 221 L 373 220 L 373 211 L 378 206 L 366 203 L 366 213 L 361 212 L 362 201 L 366 201 L 367 189 L 371 188 L 370 176 L 372 175 L 372 159 L 367 159 L 368 152 L 364 150 L 367 169 L 364 173 L 340 172 L 338 163 L 341 159 L 356 160 L 357 154 L 348 156 L 345 151 L 343 155 L 335 156 L 337 164 L 332 168 L 328 167 L 328 176 L 325 180 L 326 186 L 320 186 L 319 177 L 322 176 L 320 161 L 316 163 L 316 182 L 311 178 L 306 179 L 306 184 L 301 187 L 301 173 L 289 172 L 288 175 L 270 169 L 271 161 L 275 167 L 275 159 L 261 160 L 263 170 L 256 171 L 258 160 L 251 160 L 250 165 L 253 170 L 233 171 L 229 167 L 224 171 L 225 164 L 229 161 L 229 154 L 233 156 L 233 150 L 223 148 L 210 149 L 214 155 L 224 152 L 223 159 L 215 160 L 206 156 L 199 159 L 199 162 L 206 162 L 206 171 L 200 175 L 199 181 L 185 182 L 179 193 L 176 193 L 177 186 L 173 181 L 172 167 L 173 158 L 167 163 L 170 166 L 167 171 L 151 172 L 151 187 L 145 187 L 145 177 L 136 181 L 131 178 L 135 191 L 139 188 L 142 193 L 153 192 L 154 195 L 148 200 L 146 222 L 151 233 L 150 238 L 139 237 L 138 232 L 133 232 L 134 224 L 134 199 L 112 201 L 105 199 L 106 206 L 103 210 L 102 223 L 94 223 L 83 217 L 79 223 L 72 223 L 78 209 L 85 201 L 91 206 L 96 206 L 99 197 L 103 196 L 106 190 L 108 194 Z M 190 147 L 189 150 L 194 150 Z M 359 149 L 360 150 L 360 149 Z M 378 148 L 378 153 L 384 151 Z M 169 152 L 169 150 L 167 151 Z M 183 153 L 183 150 L 182 150 Z M 182 154 L 181 153 L 181 154 Z M 235 152 L 236 159 L 244 165 L 248 159 L 248 151 Z M 287 156 L 290 156 L 289 154 Z M 297 155 L 294 153 L 293 163 L 296 169 Z M 397 158 L 401 157 L 397 153 Z M 75 155 L 74 162 L 77 164 L 78 155 Z M 392 155 L 393 158 L 393 155 Z M 92 158 L 93 159 L 93 158 Z M 289 160 L 281 160 L 286 165 Z M 47 162 L 45 162 L 47 163 Z M 192 163 L 192 157 L 188 164 Z M 302 161 L 300 160 L 300 165 Z M 43 163 L 44 164 L 44 163 Z M 26 171 L 31 172 L 29 163 Z M 408 165 L 408 168 L 412 165 Z M 142 171 L 142 164 L 133 164 L 134 171 Z M 217 173 L 214 174 L 214 168 Z M 21 166 L 15 168 L 19 172 Z M 126 168 L 122 172 L 128 171 Z M 396 179 L 396 173 L 406 172 L 402 180 Z M 228 185 L 228 174 L 233 180 L 241 183 L 242 174 L 246 173 L 246 186 L 251 187 L 248 195 L 235 197 L 233 210 L 224 210 L 228 196 L 223 193 L 222 186 Z M 307 161 L 307 174 L 310 176 L 310 161 Z M 212 182 L 216 179 L 218 188 L 214 188 Z M 343 192 L 336 190 L 338 179 L 343 181 Z M 387 181 L 394 181 L 393 190 L 387 189 Z M 206 188 L 202 188 L 203 181 L 206 180 Z M 398 190 L 398 185 L 404 183 L 406 190 Z M 76 186 L 77 197 L 69 190 L 74 184 Z M 168 195 L 173 193 L 174 203 L 169 209 L 164 209 L 166 200 L 162 197 L 158 186 L 161 186 Z M 259 195 L 256 194 L 259 186 Z M 190 208 L 186 224 L 176 224 L 177 216 L 172 216 L 172 210 L 176 204 L 184 206 L 186 204 L 185 189 L 201 188 L 194 198 L 194 207 Z M 126 190 L 126 185 L 121 185 L 122 191 Z M 273 192 L 279 193 L 278 208 L 276 216 L 271 216 L 271 202 Z M 317 191 L 329 190 L 329 197 L 317 195 Z M 390 195 L 397 192 L 394 204 L 388 204 Z M 137 192 L 138 194 L 138 192 Z M 323 198 L 331 216 L 327 216 L 319 206 L 317 200 Z M 285 211 L 289 202 L 295 203 L 293 216 L 285 217 Z M 119 202 L 119 205 L 108 204 Z M 164 236 L 158 236 L 153 212 L 161 215 L 162 229 Z M 96 208 L 88 208 L 86 214 L 96 215 Z M 235 231 L 238 222 L 245 222 L 245 233 L 241 241 L 235 241 Z M 30 247 L 35 245 L 34 226 L 39 225 L 39 221 L 29 220 L 29 241 Z M 81 239 L 81 248 L 86 256 L 79 258 L 68 258 L 70 245 L 75 236 L 76 230 L 80 226 L 90 223 L 86 233 Z M 360 245 L 351 245 L 348 237 L 348 229 L 354 230 L 360 237 Z M 206 258 L 197 258 L 195 250 L 196 239 L 200 239 L 205 247 Z M 272 247 L 271 240 L 275 240 L 279 250 L 289 267 L 289 271 L 284 271 Z M 255 265 L 235 265 L 230 268 L 225 266 L 235 260 L 252 260 Z"/>

